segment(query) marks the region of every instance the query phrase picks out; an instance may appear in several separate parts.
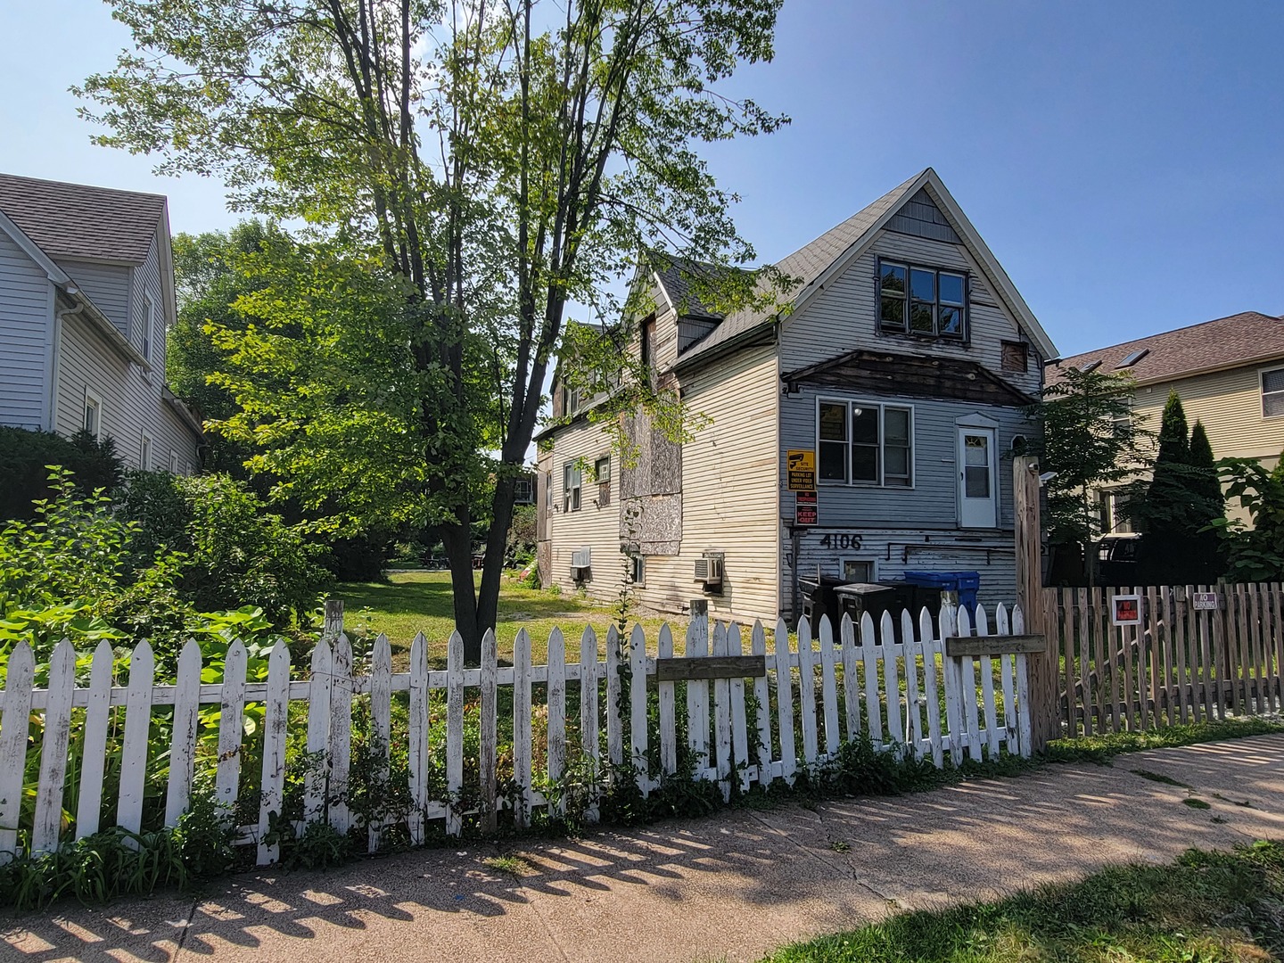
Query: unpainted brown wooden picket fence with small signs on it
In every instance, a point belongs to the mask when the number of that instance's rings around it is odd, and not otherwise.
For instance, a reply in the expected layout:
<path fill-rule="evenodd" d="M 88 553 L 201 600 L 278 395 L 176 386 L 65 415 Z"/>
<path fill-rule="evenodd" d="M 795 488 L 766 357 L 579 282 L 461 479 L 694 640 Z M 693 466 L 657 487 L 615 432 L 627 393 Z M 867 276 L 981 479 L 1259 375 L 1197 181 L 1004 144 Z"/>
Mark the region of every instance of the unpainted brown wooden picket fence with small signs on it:
<path fill-rule="evenodd" d="M 1140 625 L 1112 620 L 1139 596 Z M 1197 594 L 1202 596 L 1195 607 Z M 1061 715 L 1071 737 L 1279 711 L 1284 586 L 1052 588 L 1049 645 L 1061 655 Z"/>

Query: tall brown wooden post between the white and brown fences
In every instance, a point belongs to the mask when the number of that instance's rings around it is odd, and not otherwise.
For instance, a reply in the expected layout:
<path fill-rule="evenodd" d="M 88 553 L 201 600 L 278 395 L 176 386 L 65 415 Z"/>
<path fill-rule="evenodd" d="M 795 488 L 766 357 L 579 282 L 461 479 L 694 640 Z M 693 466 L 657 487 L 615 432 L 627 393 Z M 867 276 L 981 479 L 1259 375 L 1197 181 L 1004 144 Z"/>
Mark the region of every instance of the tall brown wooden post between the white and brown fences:
<path fill-rule="evenodd" d="M 1017 550 L 1017 603 L 1030 634 L 1049 634 L 1044 619 L 1043 538 L 1039 519 L 1039 460 L 1021 455 L 1012 460 L 1012 508 Z M 1043 751 L 1048 741 L 1061 734 L 1061 693 L 1058 692 L 1058 651 L 1030 655 L 1030 734 L 1031 749 Z"/>

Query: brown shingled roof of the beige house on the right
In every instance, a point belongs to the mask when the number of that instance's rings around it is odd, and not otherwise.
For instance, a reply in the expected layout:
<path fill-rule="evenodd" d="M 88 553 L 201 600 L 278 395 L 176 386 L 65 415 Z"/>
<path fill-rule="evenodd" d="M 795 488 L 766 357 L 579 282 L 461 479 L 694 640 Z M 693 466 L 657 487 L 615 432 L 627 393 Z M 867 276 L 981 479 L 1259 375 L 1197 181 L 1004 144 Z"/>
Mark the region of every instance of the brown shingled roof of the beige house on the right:
<path fill-rule="evenodd" d="M 1129 367 L 1118 369 L 1125 358 L 1136 352 L 1145 354 Z M 1067 367 L 1082 370 L 1097 362 L 1103 371 L 1131 371 L 1139 383 L 1145 384 L 1279 357 L 1284 357 L 1284 316 L 1243 311 L 1061 358 L 1046 366 L 1046 380 L 1055 384 Z"/>

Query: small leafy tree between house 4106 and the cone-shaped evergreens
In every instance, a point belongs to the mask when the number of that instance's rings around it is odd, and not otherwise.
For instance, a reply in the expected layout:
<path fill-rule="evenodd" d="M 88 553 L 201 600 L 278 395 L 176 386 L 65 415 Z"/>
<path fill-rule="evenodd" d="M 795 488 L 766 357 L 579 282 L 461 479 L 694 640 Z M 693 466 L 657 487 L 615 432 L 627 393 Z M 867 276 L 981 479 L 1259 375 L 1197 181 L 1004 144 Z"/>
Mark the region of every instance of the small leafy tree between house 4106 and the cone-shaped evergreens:
<path fill-rule="evenodd" d="M 1046 483 L 1049 542 L 1077 555 L 1091 583 L 1091 544 L 1102 535 L 1099 494 L 1127 488 L 1145 466 L 1149 433 L 1132 415 L 1131 375 L 1067 367 L 1027 416 L 1037 426 L 1034 446 Z"/>

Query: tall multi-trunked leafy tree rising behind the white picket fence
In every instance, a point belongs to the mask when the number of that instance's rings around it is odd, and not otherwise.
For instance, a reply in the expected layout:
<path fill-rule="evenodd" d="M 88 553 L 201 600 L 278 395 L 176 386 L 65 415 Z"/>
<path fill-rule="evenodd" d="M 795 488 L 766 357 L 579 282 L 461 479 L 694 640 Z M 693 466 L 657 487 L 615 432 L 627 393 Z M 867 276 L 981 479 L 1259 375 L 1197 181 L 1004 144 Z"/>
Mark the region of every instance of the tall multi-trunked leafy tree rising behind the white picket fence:
<path fill-rule="evenodd" d="M 697 145 L 783 122 L 720 89 L 772 58 L 781 0 L 109 3 L 135 50 L 80 90 L 100 143 L 221 176 L 235 207 L 369 249 L 403 286 L 389 330 L 415 374 L 419 511 L 475 659 L 568 306 L 614 313 L 600 291 L 646 248 L 752 259 Z M 716 276 L 728 303 L 772 297 L 770 277 Z M 664 401 L 614 377 L 637 406 Z M 256 401 L 265 433 L 298 419 Z"/>

